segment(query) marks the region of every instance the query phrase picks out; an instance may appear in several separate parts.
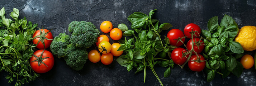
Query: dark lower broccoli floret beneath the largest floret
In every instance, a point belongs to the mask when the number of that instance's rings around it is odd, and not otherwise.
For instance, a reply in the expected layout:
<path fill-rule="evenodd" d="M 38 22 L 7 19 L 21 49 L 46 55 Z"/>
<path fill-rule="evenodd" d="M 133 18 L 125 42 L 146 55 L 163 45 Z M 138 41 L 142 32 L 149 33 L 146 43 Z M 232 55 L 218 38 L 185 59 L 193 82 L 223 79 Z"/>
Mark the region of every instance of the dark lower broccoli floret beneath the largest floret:
<path fill-rule="evenodd" d="M 67 56 L 64 57 L 68 66 L 74 70 L 81 70 L 88 59 L 86 48 L 75 47 L 72 44 L 67 46 Z"/>

